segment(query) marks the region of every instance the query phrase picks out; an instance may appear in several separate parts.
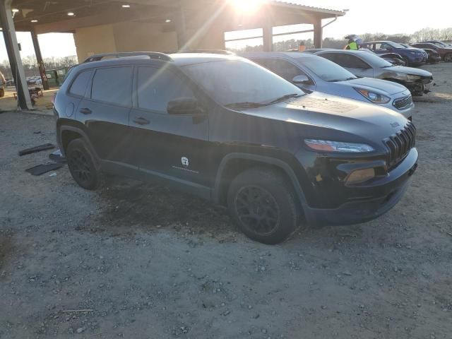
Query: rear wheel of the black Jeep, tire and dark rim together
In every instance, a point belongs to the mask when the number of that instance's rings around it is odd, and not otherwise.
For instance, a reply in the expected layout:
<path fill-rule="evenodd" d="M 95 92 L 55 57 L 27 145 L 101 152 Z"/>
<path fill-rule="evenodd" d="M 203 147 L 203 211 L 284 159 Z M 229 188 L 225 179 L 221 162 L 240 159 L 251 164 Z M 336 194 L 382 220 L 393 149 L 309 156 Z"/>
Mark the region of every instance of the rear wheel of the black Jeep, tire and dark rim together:
<path fill-rule="evenodd" d="M 78 186 L 93 191 L 102 186 L 103 177 L 93 152 L 83 139 L 71 141 L 66 149 L 69 171 Z"/>

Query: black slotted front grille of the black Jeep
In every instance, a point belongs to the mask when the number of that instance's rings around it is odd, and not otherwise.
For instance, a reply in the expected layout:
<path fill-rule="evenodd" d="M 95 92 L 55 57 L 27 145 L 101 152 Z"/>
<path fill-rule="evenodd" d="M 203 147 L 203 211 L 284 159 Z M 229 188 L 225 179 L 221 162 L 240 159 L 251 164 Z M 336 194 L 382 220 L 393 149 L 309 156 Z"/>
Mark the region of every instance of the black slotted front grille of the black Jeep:
<path fill-rule="evenodd" d="M 396 134 L 383 140 L 389 150 L 388 167 L 396 166 L 416 145 L 416 127 L 410 121 Z"/>

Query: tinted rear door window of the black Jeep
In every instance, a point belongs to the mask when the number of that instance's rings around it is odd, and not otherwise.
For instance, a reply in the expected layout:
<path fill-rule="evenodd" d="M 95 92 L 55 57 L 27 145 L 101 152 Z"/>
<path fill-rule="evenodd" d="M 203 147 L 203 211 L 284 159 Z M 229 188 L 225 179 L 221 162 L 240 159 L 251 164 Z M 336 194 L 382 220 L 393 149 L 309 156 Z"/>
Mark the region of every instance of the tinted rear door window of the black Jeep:
<path fill-rule="evenodd" d="M 91 98 L 114 105 L 132 105 L 132 68 L 97 69 L 93 78 Z"/>

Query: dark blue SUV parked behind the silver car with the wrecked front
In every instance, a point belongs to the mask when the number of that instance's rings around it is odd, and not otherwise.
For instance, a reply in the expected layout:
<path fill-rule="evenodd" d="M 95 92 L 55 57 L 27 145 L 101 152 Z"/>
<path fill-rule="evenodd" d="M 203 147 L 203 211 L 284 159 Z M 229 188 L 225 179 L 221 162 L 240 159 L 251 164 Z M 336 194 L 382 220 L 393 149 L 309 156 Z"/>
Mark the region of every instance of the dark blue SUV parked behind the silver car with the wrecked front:
<path fill-rule="evenodd" d="M 427 64 L 429 55 L 419 48 L 404 47 L 401 44 L 392 41 L 372 41 L 364 42 L 359 45 L 360 48 L 370 49 L 376 54 L 397 53 L 403 57 L 406 66 L 421 66 Z"/>

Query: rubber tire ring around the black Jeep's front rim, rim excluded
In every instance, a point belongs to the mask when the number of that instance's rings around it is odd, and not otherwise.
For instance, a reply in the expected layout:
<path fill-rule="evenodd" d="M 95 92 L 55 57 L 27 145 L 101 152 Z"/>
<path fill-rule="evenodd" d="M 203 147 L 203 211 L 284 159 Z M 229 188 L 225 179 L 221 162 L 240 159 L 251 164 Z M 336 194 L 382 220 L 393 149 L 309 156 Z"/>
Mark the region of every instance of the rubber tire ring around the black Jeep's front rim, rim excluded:
<path fill-rule="evenodd" d="M 271 233 L 263 235 L 253 232 L 239 220 L 234 201 L 237 192 L 244 186 L 254 186 L 264 189 L 273 196 L 278 204 L 280 222 L 278 227 Z M 240 230 L 250 239 L 263 244 L 279 244 L 288 239 L 298 227 L 299 208 L 293 190 L 280 174 L 266 169 L 249 169 L 239 174 L 230 184 L 227 194 L 227 207 Z"/>

